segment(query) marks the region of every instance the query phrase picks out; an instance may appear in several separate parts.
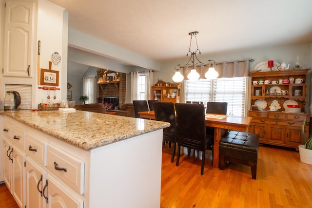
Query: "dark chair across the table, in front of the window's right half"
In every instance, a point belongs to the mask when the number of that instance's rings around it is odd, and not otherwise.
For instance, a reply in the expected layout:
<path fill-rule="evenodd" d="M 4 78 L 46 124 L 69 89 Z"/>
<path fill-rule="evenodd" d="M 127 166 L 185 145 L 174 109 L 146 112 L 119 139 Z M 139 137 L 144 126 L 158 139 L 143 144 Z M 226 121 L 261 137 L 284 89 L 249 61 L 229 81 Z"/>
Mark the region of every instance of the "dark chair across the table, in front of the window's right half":
<path fill-rule="evenodd" d="M 228 103 L 227 102 L 207 102 L 206 113 L 214 113 L 214 114 L 225 114 L 227 113 Z M 210 139 L 210 143 L 207 144 L 207 148 L 211 149 L 214 145 L 214 137 L 215 137 L 215 128 L 206 127 L 207 136 L 212 138 Z"/>

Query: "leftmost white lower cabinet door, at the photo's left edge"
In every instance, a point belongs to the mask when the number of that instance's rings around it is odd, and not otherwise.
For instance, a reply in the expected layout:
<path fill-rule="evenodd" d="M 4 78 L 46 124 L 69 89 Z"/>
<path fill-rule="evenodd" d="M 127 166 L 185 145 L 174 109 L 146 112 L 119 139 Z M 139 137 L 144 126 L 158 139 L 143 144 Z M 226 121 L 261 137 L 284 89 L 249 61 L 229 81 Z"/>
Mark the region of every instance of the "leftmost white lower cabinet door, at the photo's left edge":
<path fill-rule="evenodd" d="M 7 188 L 12 193 L 12 143 L 7 141 L 7 138 L 3 139 L 3 180 Z"/>

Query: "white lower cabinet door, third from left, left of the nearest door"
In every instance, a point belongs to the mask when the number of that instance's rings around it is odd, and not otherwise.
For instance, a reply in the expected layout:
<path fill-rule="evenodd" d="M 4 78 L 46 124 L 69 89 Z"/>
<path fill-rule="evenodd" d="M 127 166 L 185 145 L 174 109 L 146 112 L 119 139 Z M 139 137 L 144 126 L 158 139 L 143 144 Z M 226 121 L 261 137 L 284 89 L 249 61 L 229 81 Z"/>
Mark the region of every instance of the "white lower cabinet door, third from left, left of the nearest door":
<path fill-rule="evenodd" d="M 32 159 L 26 158 L 26 207 L 45 208 L 42 190 L 47 171 L 40 168 Z"/>

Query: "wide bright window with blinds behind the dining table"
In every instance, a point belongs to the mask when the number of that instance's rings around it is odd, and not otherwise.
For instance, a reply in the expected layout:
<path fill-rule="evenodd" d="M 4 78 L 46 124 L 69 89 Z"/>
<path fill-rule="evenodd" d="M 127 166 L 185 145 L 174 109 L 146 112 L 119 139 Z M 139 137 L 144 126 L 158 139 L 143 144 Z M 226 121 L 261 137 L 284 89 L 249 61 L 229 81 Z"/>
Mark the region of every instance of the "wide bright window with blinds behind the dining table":
<path fill-rule="evenodd" d="M 185 101 L 227 102 L 228 114 L 244 115 L 247 77 L 185 80 Z"/>

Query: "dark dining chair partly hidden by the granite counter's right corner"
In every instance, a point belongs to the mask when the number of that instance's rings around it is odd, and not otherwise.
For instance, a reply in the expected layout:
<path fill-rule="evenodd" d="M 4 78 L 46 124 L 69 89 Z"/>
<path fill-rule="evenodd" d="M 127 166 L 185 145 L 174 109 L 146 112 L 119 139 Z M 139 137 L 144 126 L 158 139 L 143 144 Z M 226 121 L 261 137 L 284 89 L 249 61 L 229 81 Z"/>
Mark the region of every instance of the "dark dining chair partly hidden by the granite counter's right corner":
<path fill-rule="evenodd" d="M 165 121 L 170 123 L 170 127 L 163 130 L 163 141 L 169 142 L 169 147 L 173 144 L 171 162 L 174 162 L 176 153 L 176 113 L 175 105 L 171 102 L 154 102 L 155 119 L 157 121 Z"/>

